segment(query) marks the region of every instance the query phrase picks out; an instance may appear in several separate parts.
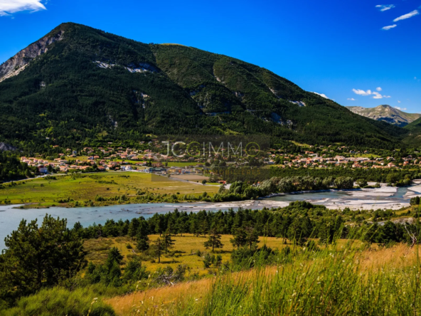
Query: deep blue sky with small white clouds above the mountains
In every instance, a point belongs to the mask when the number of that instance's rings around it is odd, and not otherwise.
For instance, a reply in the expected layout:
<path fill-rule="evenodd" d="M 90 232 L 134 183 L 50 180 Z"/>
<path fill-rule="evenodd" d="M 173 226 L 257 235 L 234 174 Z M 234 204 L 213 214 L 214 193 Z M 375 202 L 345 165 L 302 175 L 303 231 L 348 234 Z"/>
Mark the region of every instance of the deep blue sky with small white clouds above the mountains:
<path fill-rule="evenodd" d="M 341 105 L 421 112 L 421 0 L 0 0 L 0 63 L 70 21 L 233 56 Z"/>

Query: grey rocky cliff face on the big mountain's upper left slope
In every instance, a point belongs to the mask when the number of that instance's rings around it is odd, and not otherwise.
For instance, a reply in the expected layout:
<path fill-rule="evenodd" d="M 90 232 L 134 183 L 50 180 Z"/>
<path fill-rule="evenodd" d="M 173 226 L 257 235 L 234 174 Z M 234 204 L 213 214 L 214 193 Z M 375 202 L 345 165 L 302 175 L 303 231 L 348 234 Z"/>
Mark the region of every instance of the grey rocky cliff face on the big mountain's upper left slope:
<path fill-rule="evenodd" d="M 58 33 L 55 33 L 53 36 L 45 36 L 18 52 L 9 60 L 6 60 L 5 63 L 0 65 L 0 82 L 13 77 L 14 75 L 18 75 L 18 73 L 26 68 L 31 60 L 46 53 L 46 51 L 48 51 L 48 45 L 56 41 L 61 41 L 63 39 L 63 33 L 64 31 L 58 31 Z"/>

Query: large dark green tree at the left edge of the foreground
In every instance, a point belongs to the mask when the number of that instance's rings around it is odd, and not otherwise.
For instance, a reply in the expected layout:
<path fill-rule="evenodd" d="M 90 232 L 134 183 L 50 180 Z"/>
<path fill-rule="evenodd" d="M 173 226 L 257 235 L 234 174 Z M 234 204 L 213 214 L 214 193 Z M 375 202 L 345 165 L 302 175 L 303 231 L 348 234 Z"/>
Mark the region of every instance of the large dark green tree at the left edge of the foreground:
<path fill-rule="evenodd" d="M 0 255 L 1 295 L 19 297 L 58 285 L 85 266 L 82 241 L 66 228 L 67 220 L 46 215 L 22 220 L 16 231 L 5 238 L 6 250 Z"/>

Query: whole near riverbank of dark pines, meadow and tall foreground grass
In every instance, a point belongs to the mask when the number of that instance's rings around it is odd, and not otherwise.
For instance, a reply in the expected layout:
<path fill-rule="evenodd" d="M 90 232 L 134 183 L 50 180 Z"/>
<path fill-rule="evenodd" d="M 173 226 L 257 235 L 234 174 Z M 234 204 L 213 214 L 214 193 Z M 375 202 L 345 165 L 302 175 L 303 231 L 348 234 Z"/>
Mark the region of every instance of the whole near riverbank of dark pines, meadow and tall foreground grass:
<path fill-rule="evenodd" d="M 218 302 L 223 315 L 232 304 L 251 315 L 271 309 L 287 315 L 290 308 L 325 315 L 329 308 L 349 311 L 357 305 L 358 311 L 375 311 L 377 307 L 368 304 L 369 291 L 401 295 L 420 286 L 412 278 L 421 271 L 416 261 L 419 212 L 419 206 L 398 213 L 338 211 L 294 202 L 262 211 L 175 210 L 87 228 L 76 223 L 68 229 L 65 220 L 50 216 L 40 224 L 22 221 L 6 238 L 6 251 L 0 255 L 0 308 L 6 309 L 4 315 L 35 315 L 41 310 L 45 315 L 85 315 L 87 310 L 90 315 L 137 310 L 146 315 L 204 315 L 196 308 L 206 310 L 210 302 Z M 399 265 L 385 257 L 390 249 L 399 251 L 398 257 L 392 254 Z M 373 256 L 377 257 L 371 266 L 367 258 Z M 184 286 L 185 281 L 193 282 L 188 286 L 205 286 L 198 293 L 174 297 L 182 293 L 174 293 L 173 286 Z M 157 297 L 161 310 L 156 310 L 149 296 L 139 298 L 163 286 L 171 287 L 164 291 L 174 304 Z M 269 299 L 275 293 L 286 302 Z M 127 297 L 132 305 L 127 305 Z M 404 315 L 418 298 L 412 293 L 400 300 Z M 398 302 L 390 302 L 393 311 Z"/>

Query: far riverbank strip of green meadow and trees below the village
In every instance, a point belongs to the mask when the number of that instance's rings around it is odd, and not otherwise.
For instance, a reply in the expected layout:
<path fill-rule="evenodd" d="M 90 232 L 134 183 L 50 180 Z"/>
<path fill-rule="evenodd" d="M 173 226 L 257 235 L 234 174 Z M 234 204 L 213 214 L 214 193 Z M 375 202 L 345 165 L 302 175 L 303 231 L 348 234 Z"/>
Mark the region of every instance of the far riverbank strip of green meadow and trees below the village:
<path fill-rule="evenodd" d="M 265 169 L 267 172 L 269 169 Z M 300 172 L 292 172 L 294 174 Z M 243 201 L 258 199 L 270 194 L 328 189 L 359 189 L 368 181 L 380 179 L 390 186 L 407 186 L 421 174 L 413 172 L 351 172 L 331 177 L 328 170 L 312 169 L 311 175 L 271 177 L 263 181 L 233 181 L 225 185 L 205 185 L 199 181 L 180 181 L 155 174 L 138 172 L 106 172 L 97 174 L 54 175 L 43 178 L 15 181 L 0 186 L 0 204 L 26 204 L 22 207 L 48 206 L 106 206 L 129 203 L 176 203 L 177 201 Z M 351 170 L 353 171 L 353 170 Z M 245 172 L 247 175 L 247 172 Z M 310 174 L 310 170 L 307 172 Z M 353 174 L 354 177 L 346 177 Z"/>

